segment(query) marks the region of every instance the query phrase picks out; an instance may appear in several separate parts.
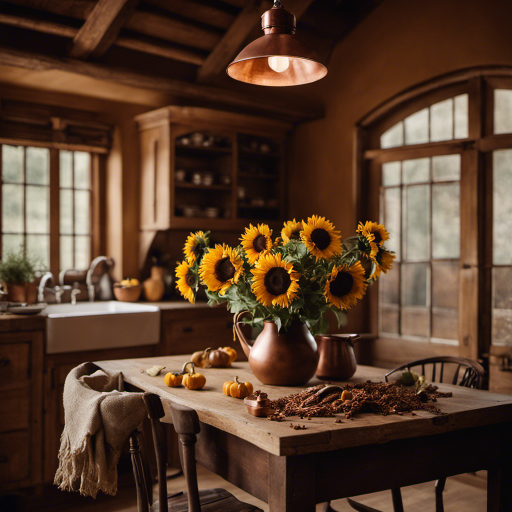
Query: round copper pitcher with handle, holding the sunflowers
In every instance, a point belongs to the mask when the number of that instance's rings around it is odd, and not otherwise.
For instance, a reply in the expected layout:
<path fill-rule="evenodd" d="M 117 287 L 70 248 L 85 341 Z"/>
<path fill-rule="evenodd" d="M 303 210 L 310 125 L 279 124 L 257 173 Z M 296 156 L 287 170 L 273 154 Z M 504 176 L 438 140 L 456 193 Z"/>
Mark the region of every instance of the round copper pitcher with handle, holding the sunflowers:
<path fill-rule="evenodd" d="M 234 318 L 234 329 L 249 359 L 254 376 L 263 384 L 299 386 L 314 374 L 318 362 L 315 338 L 306 324 L 292 324 L 288 332 L 279 333 L 273 322 L 265 322 L 263 331 L 249 343 L 242 323 Z"/>

